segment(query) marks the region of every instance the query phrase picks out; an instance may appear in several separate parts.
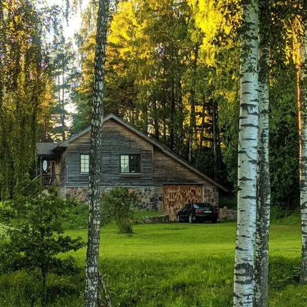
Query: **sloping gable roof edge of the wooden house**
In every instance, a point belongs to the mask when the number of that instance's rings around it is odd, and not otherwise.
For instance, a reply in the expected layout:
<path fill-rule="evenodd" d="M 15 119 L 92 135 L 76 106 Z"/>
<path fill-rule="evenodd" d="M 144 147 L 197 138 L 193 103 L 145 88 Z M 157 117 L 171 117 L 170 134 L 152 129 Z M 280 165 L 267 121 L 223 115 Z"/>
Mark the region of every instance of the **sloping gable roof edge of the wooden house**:
<path fill-rule="evenodd" d="M 188 167 L 189 169 L 191 169 L 192 171 L 194 171 L 195 173 L 199 174 L 201 177 L 203 177 L 204 179 L 208 180 L 209 182 L 211 182 L 212 184 L 214 184 L 215 186 L 221 188 L 223 191 L 227 192 L 228 190 L 223 187 L 221 184 L 217 183 L 216 181 L 214 181 L 213 179 L 211 179 L 210 177 L 206 176 L 205 174 L 203 174 L 201 171 L 199 171 L 198 169 L 196 169 L 192 164 L 190 164 L 189 162 L 185 161 L 183 158 L 181 158 L 180 156 L 178 156 L 176 153 L 174 153 L 170 148 L 168 148 L 167 146 L 161 144 L 159 141 L 151 139 L 150 137 L 148 137 L 147 135 L 141 133 L 139 130 L 137 130 L 133 125 L 128 124 L 127 122 L 123 121 L 122 119 L 120 119 L 119 117 L 117 117 L 114 114 L 109 114 L 107 116 L 105 116 L 103 118 L 103 123 L 106 122 L 109 119 L 113 119 L 115 121 L 117 121 L 118 123 L 120 123 L 121 125 L 125 126 L 126 128 L 128 128 L 129 130 L 133 131 L 134 133 L 136 133 L 137 135 L 139 135 L 140 137 L 142 137 L 143 139 L 145 139 L 146 141 L 150 142 L 151 144 L 155 145 L 156 147 L 158 147 L 161 151 L 163 151 L 164 153 L 166 153 L 166 155 L 170 156 L 171 158 L 173 158 L 174 160 L 180 162 L 181 164 L 183 164 L 184 166 Z M 85 133 L 91 131 L 91 126 L 83 129 L 82 131 L 80 131 L 79 133 L 75 134 L 74 136 L 70 137 L 69 139 L 65 140 L 64 142 L 58 144 L 58 147 L 68 147 L 69 143 L 76 140 L 77 138 L 81 137 L 82 135 L 84 135 Z"/>

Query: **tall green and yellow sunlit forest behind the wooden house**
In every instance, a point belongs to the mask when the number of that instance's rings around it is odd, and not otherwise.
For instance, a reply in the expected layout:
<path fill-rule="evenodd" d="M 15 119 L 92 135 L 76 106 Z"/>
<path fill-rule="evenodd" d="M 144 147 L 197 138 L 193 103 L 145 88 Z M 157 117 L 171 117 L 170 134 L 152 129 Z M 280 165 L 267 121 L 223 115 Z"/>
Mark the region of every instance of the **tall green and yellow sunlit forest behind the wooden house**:
<path fill-rule="evenodd" d="M 32 2 L 14 3 L 3 3 L 1 19 L 2 199 L 31 174 L 35 142 L 63 141 L 90 125 L 94 78 L 94 4 L 83 12 L 72 41 L 63 25 L 73 7 L 38 10 Z M 299 206 L 295 11 L 281 2 L 271 14 L 272 204 L 293 210 Z M 236 1 L 114 3 L 105 68 L 106 115 L 160 140 L 234 195 L 239 15 Z"/>

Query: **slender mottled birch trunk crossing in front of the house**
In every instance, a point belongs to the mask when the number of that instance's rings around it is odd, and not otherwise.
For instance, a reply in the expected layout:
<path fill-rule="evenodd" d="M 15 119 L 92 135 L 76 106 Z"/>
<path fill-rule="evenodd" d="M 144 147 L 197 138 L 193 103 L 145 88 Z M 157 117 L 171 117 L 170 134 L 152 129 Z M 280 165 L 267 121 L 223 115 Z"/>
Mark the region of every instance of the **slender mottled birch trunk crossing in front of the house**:
<path fill-rule="evenodd" d="M 89 228 L 87 233 L 84 307 L 98 306 L 98 260 L 100 244 L 100 169 L 104 94 L 104 65 L 108 0 L 99 0 L 92 101 Z"/>

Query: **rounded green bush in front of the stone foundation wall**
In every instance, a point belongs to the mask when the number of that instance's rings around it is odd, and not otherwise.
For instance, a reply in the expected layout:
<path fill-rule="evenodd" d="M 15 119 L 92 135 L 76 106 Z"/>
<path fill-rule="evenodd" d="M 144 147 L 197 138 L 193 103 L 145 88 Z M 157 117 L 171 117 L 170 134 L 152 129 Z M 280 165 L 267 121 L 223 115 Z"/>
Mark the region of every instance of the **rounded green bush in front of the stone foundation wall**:
<path fill-rule="evenodd" d="M 133 233 L 131 220 L 133 211 L 131 208 L 138 203 L 135 192 L 129 192 L 127 188 L 113 188 L 102 195 L 102 223 L 115 221 L 120 233 Z"/>

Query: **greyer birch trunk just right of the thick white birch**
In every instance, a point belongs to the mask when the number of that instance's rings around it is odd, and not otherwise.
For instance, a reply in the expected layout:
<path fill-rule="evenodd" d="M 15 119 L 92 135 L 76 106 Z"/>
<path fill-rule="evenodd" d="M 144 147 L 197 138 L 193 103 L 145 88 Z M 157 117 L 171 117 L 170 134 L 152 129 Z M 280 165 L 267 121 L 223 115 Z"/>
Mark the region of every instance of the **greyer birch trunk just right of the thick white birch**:
<path fill-rule="evenodd" d="M 269 295 L 269 230 L 271 205 L 269 169 L 269 46 L 265 35 L 262 33 L 259 35 L 259 113 L 258 208 L 254 307 L 267 307 Z"/>

